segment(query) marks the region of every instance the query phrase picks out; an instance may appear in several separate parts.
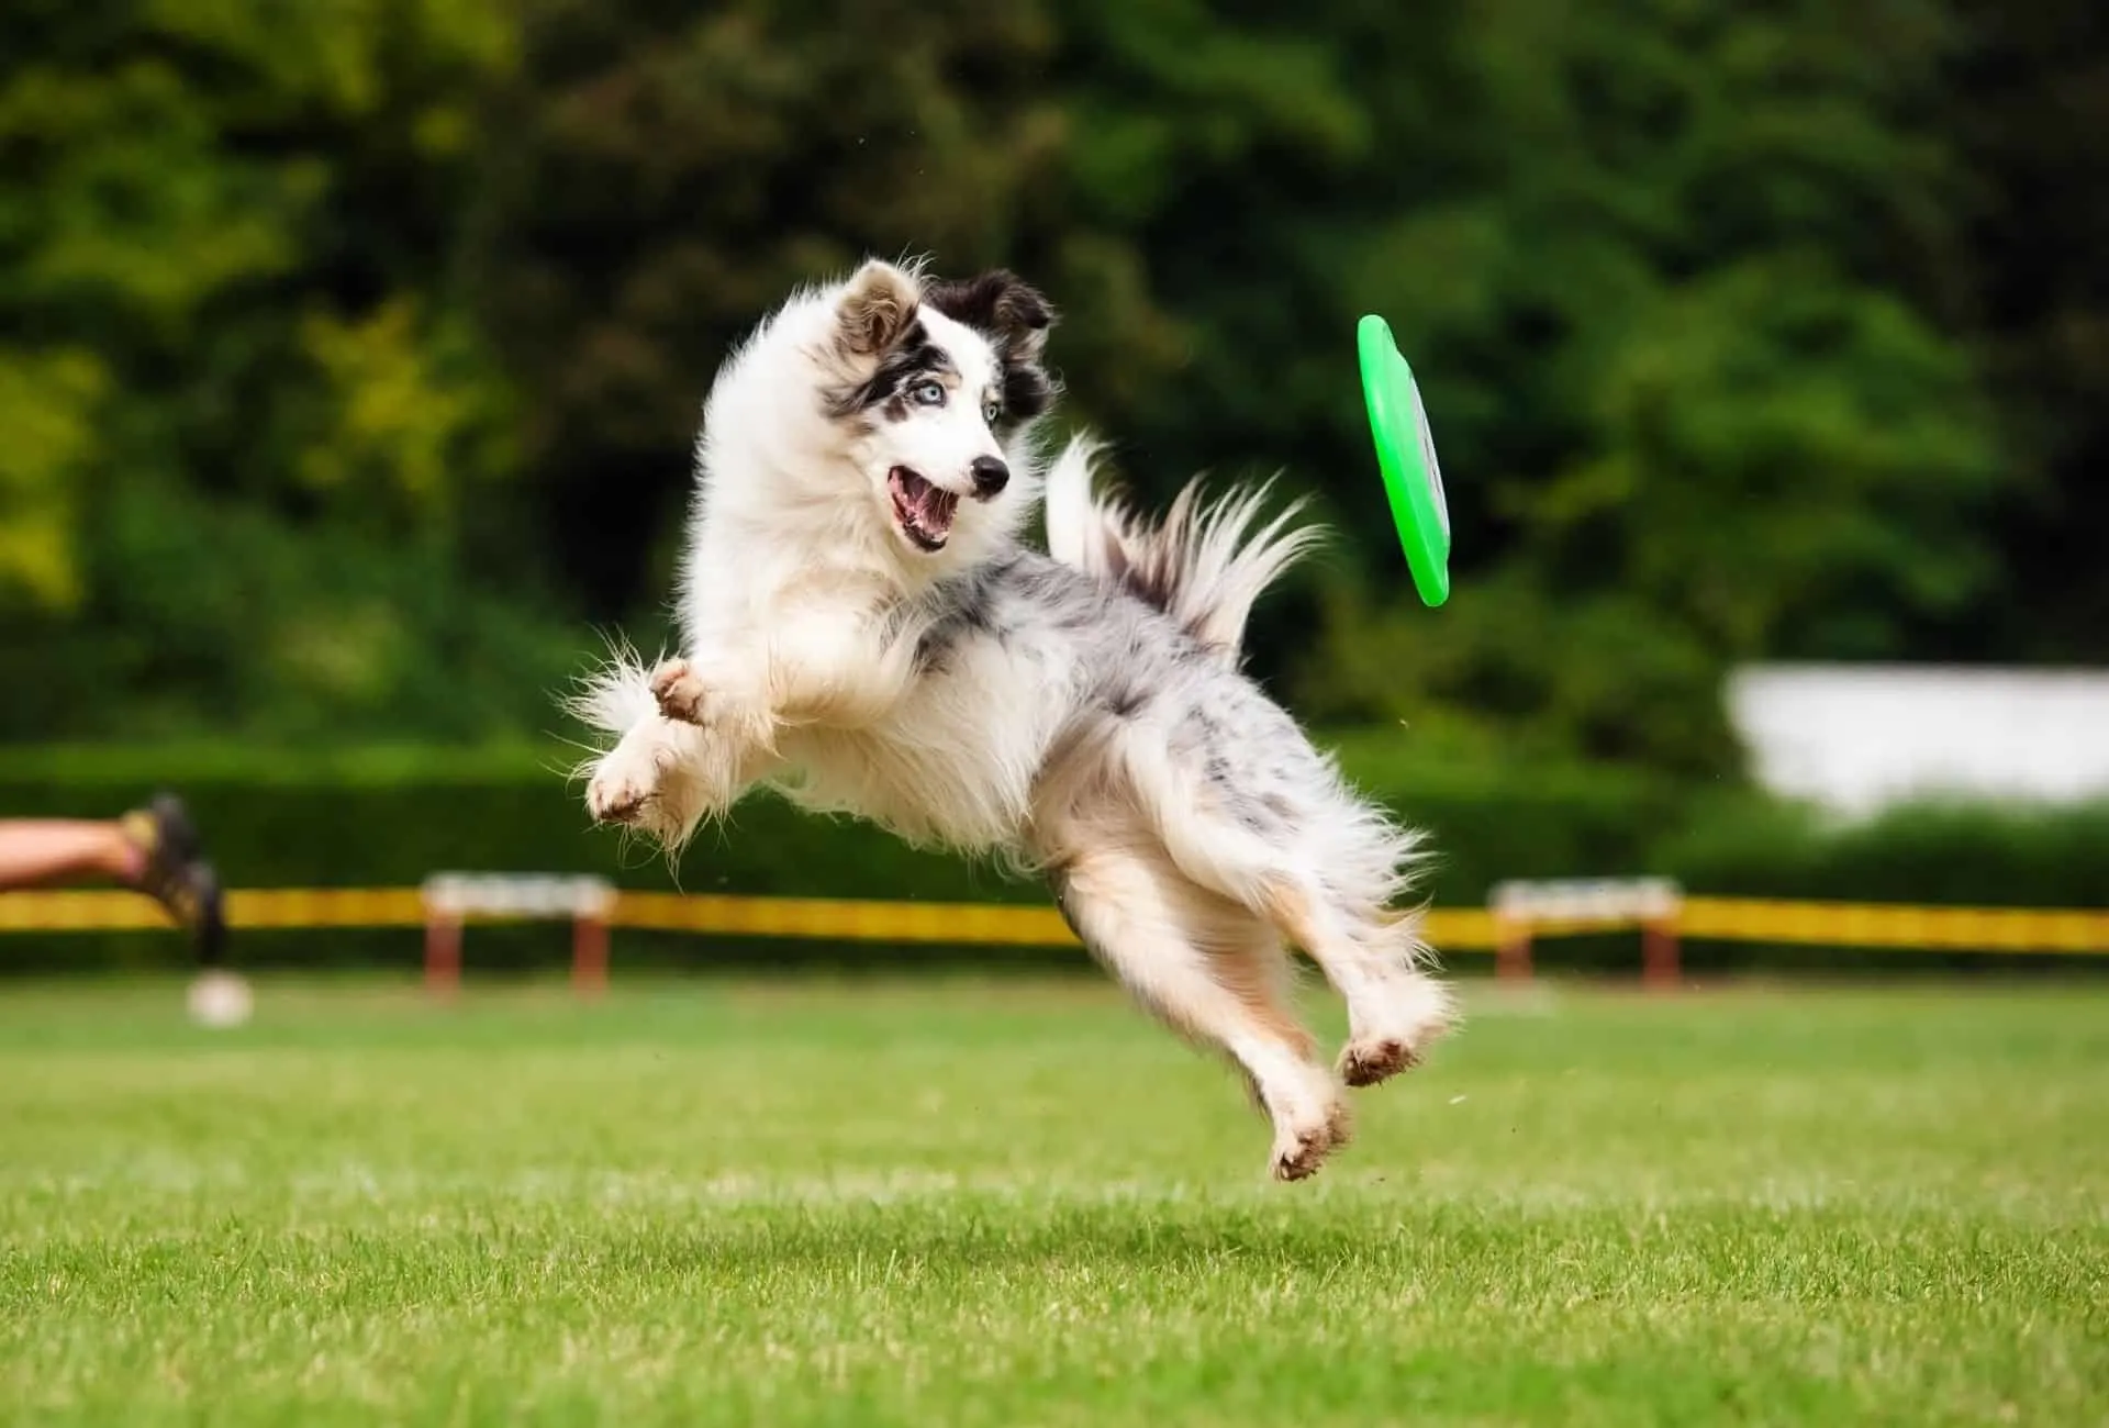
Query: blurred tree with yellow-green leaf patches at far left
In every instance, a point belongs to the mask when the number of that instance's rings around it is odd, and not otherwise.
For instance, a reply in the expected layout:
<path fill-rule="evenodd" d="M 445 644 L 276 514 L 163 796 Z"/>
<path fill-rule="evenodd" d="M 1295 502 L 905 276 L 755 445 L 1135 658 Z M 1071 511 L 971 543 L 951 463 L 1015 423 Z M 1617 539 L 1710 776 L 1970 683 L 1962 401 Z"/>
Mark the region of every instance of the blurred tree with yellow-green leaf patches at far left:
<path fill-rule="evenodd" d="M 0 732 L 477 732 L 517 711 L 449 669 L 555 675 L 531 563 L 462 570 L 517 466 L 456 270 L 510 59 L 498 0 L 11 6 Z"/>

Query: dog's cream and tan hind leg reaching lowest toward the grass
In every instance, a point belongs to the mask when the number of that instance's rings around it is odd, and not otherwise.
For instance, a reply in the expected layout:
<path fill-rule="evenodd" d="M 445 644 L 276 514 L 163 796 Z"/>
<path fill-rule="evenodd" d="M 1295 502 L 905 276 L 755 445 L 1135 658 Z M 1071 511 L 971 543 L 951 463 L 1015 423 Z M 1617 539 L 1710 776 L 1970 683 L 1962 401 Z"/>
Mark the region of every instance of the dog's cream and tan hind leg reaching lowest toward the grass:
<path fill-rule="evenodd" d="M 1090 840 L 1054 884 L 1092 956 L 1177 1031 L 1244 1069 L 1274 1122 L 1278 1179 L 1316 1173 L 1348 1141 L 1348 1105 L 1289 1004 L 1289 960 L 1265 922 L 1133 837 Z"/>

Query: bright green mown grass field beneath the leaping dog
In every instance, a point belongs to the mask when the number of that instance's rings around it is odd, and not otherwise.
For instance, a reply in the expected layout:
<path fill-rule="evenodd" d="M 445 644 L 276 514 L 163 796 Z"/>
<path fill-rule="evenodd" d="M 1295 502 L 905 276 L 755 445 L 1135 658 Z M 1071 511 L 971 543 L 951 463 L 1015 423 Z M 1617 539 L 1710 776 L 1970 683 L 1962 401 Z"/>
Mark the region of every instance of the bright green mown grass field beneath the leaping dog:
<path fill-rule="evenodd" d="M 0 1417 L 2109 1422 L 2103 989 L 1470 1010 L 1272 1185 L 1095 983 L 0 987 Z"/>

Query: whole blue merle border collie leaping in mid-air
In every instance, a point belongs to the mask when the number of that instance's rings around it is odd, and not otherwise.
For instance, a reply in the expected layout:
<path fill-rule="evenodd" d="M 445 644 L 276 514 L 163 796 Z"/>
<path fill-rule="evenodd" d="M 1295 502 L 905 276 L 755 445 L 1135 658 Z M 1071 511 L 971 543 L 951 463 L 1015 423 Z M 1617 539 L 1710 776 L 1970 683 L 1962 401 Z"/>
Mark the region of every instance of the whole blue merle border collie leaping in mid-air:
<path fill-rule="evenodd" d="M 1042 873 L 1084 945 L 1221 1048 L 1312 1175 L 1348 1086 L 1451 1023 L 1413 909 L 1417 844 L 1244 673 L 1253 601 L 1316 538 L 1263 489 L 1160 523 L 1042 470 L 1054 312 L 1008 272 L 867 262 L 795 293 L 725 361 L 696 443 L 681 652 L 618 650 L 574 698 L 605 738 L 597 821 L 677 852 L 757 785 Z M 1048 551 L 1021 529 L 1046 500 Z M 1337 1069 L 1284 943 L 1348 1002 Z"/>

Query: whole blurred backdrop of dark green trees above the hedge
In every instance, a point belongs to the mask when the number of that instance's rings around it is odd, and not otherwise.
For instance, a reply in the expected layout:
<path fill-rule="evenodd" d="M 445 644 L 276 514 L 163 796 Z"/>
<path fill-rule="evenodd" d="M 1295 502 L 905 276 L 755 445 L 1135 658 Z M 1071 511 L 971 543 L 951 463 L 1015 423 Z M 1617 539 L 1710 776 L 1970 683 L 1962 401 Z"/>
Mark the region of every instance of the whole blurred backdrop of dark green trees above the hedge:
<path fill-rule="evenodd" d="M 1318 498 L 1255 626 L 1318 717 L 1710 776 L 1738 660 L 2105 658 L 2096 8 L 23 0 L 0 738 L 538 734 L 658 635 L 725 344 L 865 251 L 1042 283 L 1147 496 Z"/>

